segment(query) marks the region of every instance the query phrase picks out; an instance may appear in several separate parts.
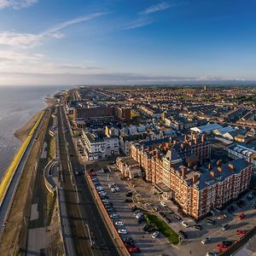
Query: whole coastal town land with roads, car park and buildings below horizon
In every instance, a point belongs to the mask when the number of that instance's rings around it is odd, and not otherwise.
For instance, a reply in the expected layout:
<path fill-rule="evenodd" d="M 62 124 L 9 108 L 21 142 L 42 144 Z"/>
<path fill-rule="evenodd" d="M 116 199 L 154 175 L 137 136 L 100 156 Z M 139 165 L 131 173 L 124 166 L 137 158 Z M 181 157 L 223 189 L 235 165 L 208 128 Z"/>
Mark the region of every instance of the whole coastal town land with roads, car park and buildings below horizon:
<path fill-rule="evenodd" d="M 30 210 L 5 192 L 3 255 L 255 252 L 255 86 L 79 86 L 53 100 L 27 146 L 41 148 L 20 190 Z"/>

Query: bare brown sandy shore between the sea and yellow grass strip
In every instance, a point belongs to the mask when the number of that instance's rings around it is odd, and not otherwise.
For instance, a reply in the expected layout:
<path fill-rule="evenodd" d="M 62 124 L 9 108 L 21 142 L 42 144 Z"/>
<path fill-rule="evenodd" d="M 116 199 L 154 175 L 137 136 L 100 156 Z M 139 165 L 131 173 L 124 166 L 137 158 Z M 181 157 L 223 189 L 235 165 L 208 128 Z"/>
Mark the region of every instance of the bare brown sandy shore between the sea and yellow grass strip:
<path fill-rule="evenodd" d="M 46 107 L 45 108 L 50 108 L 52 107 L 53 105 L 55 105 L 56 103 L 56 100 L 54 97 L 50 97 L 50 96 L 47 96 L 45 97 L 44 99 L 44 102 L 46 104 Z M 17 129 L 15 132 L 14 132 L 14 136 L 20 140 L 20 143 L 23 143 L 25 140 L 26 140 L 26 137 L 28 136 L 29 132 L 31 131 L 33 125 L 35 125 L 35 123 L 37 122 L 38 120 L 38 117 L 40 116 L 40 114 L 42 113 L 42 111 L 45 109 L 41 109 L 41 110 L 38 110 L 37 113 L 35 113 L 31 119 L 29 119 L 25 125 L 22 125 L 19 129 Z"/>

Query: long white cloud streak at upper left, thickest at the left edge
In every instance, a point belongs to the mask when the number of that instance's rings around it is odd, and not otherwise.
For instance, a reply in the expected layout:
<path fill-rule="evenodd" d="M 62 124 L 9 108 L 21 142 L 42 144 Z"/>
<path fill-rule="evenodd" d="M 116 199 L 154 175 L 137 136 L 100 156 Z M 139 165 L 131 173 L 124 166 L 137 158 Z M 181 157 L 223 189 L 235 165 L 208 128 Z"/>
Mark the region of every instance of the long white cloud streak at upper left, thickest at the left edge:
<path fill-rule="evenodd" d="M 3 1 L 3 0 L 0 0 Z M 67 26 L 72 26 L 80 22 L 94 20 L 97 17 L 106 15 L 107 13 L 95 13 L 91 15 L 85 15 L 83 17 L 75 18 L 73 20 L 64 21 L 56 26 L 53 26 L 44 32 L 40 33 L 21 33 L 21 32 L 0 32 L 0 45 L 8 45 L 20 48 L 32 48 L 35 45 L 41 44 L 44 40 L 49 38 L 63 38 L 64 34 L 61 30 Z"/>

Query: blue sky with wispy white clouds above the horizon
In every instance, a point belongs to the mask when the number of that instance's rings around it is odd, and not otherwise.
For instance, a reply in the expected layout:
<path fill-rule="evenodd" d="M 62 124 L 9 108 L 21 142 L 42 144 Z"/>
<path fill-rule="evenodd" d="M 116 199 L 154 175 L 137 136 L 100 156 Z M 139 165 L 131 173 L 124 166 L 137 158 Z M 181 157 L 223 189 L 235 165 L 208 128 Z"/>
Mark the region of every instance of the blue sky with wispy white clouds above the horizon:
<path fill-rule="evenodd" d="M 255 0 L 0 0 L 0 85 L 256 81 Z"/>

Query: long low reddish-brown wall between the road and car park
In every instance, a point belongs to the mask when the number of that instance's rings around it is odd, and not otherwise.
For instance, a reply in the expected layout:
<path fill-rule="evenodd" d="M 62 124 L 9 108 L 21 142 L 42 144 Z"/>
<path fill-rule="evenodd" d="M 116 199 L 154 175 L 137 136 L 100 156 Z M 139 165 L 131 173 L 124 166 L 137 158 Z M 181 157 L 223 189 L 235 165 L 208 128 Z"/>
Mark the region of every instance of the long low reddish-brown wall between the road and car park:
<path fill-rule="evenodd" d="M 96 197 L 96 205 L 99 208 L 100 212 L 102 212 L 102 217 L 105 220 L 105 223 L 107 224 L 107 228 L 108 228 L 108 232 L 110 234 L 112 234 L 114 232 L 114 237 L 115 237 L 115 243 L 117 243 L 119 245 L 118 249 L 119 249 L 119 253 L 120 255 L 123 256 L 128 256 L 130 255 L 130 253 L 128 252 L 127 248 L 125 247 L 124 241 L 122 241 L 122 239 L 119 236 L 118 231 L 115 229 L 115 226 L 113 224 L 112 219 L 109 217 L 108 212 L 106 211 L 102 200 L 100 198 L 100 196 L 98 195 L 95 185 L 92 182 L 90 175 L 88 174 L 88 172 L 86 172 L 85 174 L 86 180 L 90 185 L 90 190 L 93 192 L 92 194 Z"/>

